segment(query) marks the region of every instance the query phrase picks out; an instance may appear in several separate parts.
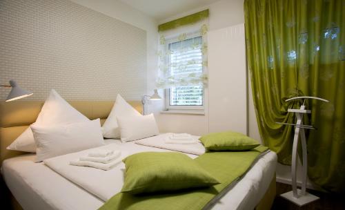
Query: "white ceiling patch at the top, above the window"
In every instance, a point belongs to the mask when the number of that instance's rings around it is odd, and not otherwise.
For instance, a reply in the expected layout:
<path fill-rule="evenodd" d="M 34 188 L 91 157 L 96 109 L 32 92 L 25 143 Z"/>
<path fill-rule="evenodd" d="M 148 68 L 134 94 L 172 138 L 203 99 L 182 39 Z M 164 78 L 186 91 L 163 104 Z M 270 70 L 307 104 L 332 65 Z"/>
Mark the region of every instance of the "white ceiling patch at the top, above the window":
<path fill-rule="evenodd" d="M 161 21 L 219 0 L 120 0 Z"/>

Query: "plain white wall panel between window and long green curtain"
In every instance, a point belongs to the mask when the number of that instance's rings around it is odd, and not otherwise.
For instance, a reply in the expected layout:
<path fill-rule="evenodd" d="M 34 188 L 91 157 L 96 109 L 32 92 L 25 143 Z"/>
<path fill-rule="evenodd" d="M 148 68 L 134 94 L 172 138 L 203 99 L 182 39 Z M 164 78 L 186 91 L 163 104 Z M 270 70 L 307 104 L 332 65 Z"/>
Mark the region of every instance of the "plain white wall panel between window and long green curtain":
<path fill-rule="evenodd" d="M 244 24 L 208 33 L 208 131 L 247 134 Z"/>

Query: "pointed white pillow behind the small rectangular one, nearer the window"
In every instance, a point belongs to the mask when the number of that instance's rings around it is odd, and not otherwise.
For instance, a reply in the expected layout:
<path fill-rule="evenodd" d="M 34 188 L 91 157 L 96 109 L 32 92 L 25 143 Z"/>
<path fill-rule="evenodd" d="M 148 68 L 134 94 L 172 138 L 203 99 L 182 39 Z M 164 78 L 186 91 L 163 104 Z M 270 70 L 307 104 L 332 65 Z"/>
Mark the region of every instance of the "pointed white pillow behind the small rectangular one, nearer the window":
<path fill-rule="evenodd" d="M 103 137 L 111 139 L 119 138 L 121 133 L 117 125 L 117 117 L 132 116 L 141 116 L 141 114 L 130 106 L 121 95 L 117 94 L 115 104 L 112 106 L 112 110 L 102 126 Z"/>

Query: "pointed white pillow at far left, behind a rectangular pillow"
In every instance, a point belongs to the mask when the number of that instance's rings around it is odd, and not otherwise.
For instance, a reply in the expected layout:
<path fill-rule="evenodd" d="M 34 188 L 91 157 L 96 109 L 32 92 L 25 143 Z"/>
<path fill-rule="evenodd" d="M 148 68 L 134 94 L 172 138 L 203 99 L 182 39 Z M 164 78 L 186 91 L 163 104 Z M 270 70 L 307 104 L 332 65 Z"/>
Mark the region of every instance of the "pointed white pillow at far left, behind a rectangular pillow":
<path fill-rule="evenodd" d="M 86 121 L 89 121 L 87 117 L 70 106 L 70 104 L 68 104 L 68 102 L 66 102 L 55 90 L 51 90 L 34 125 L 50 126 Z M 32 135 L 30 127 L 21 133 L 7 149 L 31 153 L 36 152 L 34 136 Z"/>

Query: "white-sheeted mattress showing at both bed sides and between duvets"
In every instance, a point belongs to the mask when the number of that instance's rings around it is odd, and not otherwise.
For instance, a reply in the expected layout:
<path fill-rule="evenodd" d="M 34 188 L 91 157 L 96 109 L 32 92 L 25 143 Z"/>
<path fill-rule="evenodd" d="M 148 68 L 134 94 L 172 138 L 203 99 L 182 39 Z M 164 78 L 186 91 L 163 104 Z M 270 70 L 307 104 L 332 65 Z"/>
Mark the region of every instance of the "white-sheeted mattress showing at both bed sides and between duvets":
<path fill-rule="evenodd" d="M 166 151 L 119 140 L 107 140 L 106 143 L 126 144 L 126 148 L 135 151 Z M 101 207 L 102 200 L 34 160 L 34 154 L 21 155 L 5 160 L 1 168 L 8 188 L 23 209 L 88 210 Z M 268 189 L 276 165 L 275 153 L 263 155 L 241 180 L 226 189 L 226 194 L 211 209 L 254 209 Z"/>

